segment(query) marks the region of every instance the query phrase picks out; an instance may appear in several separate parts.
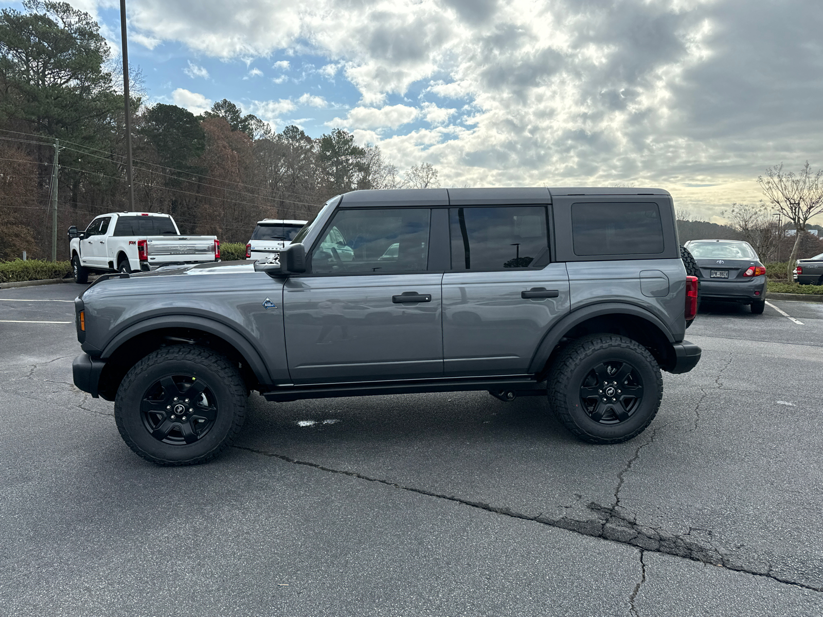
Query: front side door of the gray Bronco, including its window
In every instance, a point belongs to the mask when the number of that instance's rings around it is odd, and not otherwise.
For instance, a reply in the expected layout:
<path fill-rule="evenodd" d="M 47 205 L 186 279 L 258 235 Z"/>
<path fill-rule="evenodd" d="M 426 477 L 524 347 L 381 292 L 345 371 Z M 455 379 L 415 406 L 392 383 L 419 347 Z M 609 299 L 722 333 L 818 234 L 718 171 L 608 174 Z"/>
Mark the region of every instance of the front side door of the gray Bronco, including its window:
<path fill-rule="evenodd" d="M 295 383 L 443 375 L 441 272 L 427 271 L 428 208 L 337 211 L 283 288 Z"/>

